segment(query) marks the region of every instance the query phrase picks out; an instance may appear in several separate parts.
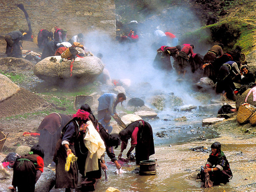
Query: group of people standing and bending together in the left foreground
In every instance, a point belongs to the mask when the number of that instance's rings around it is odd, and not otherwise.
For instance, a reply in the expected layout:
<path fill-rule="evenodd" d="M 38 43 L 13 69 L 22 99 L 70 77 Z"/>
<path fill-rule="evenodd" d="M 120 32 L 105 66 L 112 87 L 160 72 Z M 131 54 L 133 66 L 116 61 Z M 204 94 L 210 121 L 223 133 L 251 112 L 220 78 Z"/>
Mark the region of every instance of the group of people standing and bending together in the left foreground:
<path fill-rule="evenodd" d="M 29 155 L 13 161 L 13 187 L 19 191 L 34 191 L 36 181 L 48 164 L 48 167 L 56 168 L 55 188 L 65 188 L 65 191 L 77 188 L 79 174 L 82 185 L 92 185 L 101 178 L 101 169 L 108 169 L 104 152 L 117 169 L 121 168 L 119 161 L 124 160 L 122 153 L 130 138 L 131 148 L 126 157 L 130 158 L 135 148 L 137 164 L 149 160 L 155 154 L 150 123 L 140 119 L 127 125 L 119 134 L 111 134 L 111 116 L 118 116 L 116 106 L 125 99 L 123 93 L 105 93 L 99 97 L 99 121 L 88 104 L 82 104 L 74 115 L 52 113 L 46 116 L 38 127 L 38 144 L 31 148 Z M 121 151 L 116 157 L 114 147 L 121 142 Z M 22 174 L 28 176 L 26 182 L 18 180 Z"/>

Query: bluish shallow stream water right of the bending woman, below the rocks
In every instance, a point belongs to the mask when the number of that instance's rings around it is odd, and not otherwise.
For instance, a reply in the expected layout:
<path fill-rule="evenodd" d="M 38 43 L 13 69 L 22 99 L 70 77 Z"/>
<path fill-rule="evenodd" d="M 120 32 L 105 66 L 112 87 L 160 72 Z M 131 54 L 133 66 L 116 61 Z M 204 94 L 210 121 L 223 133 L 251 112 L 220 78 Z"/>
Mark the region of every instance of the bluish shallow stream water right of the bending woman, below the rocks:
<path fill-rule="evenodd" d="M 182 116 L 185 116 L 187 121 L 174 120 Z M 181 144 L 188 141 L 219 137 L 216 131 L 202 125 L 202 119 L 209 117 L 212 117 L 211 113 L 206 115 L 196 110 L 160 114 L 159 120 L 149 120 L 153 127 L 155 146 Z M 159 133 L 161 137 L 157 136 Z"/>

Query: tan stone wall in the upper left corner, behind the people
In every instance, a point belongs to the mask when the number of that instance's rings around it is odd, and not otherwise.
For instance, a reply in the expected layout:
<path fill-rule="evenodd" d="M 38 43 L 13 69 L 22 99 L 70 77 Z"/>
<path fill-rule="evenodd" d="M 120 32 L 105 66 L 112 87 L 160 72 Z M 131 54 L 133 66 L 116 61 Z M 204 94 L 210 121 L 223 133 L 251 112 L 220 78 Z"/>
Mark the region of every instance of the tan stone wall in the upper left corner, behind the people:
<path fill-rule="evenodd" d="M 114 0 L 3 0 L 0 2 L 0 35 L 11 31 L 28 30 L 23 4 L 29 14 L 33 35 L 39 30 L 54 32 L 54 27 L 68 30 L 68 39 L 78 33 L 108 31 L 115 36 Z"/>

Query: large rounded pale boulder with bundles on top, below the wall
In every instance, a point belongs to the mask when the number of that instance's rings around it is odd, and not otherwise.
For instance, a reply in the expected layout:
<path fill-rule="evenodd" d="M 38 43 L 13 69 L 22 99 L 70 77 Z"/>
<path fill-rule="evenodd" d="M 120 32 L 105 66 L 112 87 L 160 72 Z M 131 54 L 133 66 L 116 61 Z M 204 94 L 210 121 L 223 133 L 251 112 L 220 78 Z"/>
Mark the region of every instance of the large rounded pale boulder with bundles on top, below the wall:
<path fill-rule="evenodd" d="M 45 81 L 80 79 L 83 83 L 93 82 L 103 71 L 104 65 L 98 57 L 76 57 L 71 76 L 71 60 L 60 56 L 46 57 L 36 63 L 34 74 Z"/>

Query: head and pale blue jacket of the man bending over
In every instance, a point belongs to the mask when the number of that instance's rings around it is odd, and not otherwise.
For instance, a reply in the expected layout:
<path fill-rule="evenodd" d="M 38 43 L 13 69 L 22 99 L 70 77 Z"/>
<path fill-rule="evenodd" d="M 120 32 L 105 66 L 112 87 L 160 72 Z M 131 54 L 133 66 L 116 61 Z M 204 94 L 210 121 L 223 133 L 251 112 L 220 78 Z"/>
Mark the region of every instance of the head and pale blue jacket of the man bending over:
<path fill-rule="evenodd" d="M 116 106 L 119 102 L 126 100 L 126 96 L 123 93 L 118 95 L 114 93 L 104 93 L 98 98 L 98 119 L 103 119 L 105 114 L 110 114 L 111 116 L 117 116 Z"/>

